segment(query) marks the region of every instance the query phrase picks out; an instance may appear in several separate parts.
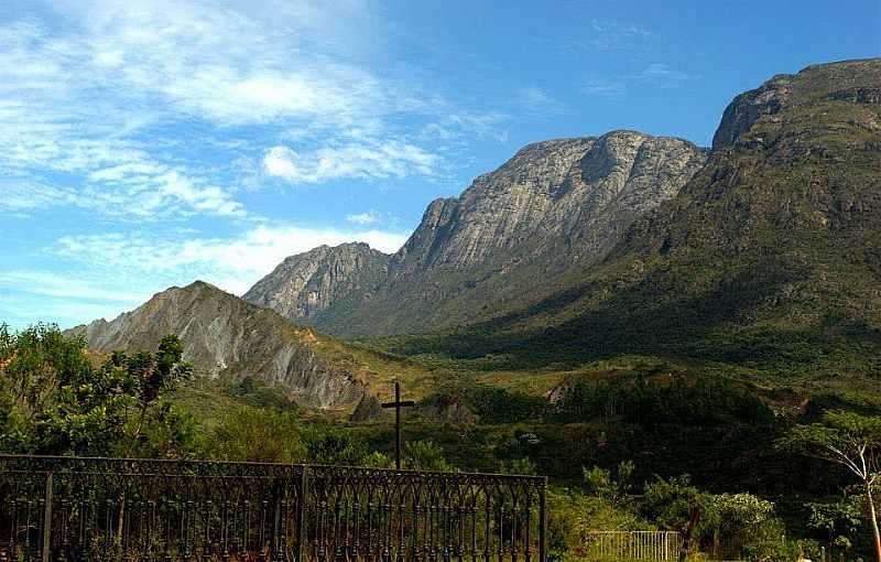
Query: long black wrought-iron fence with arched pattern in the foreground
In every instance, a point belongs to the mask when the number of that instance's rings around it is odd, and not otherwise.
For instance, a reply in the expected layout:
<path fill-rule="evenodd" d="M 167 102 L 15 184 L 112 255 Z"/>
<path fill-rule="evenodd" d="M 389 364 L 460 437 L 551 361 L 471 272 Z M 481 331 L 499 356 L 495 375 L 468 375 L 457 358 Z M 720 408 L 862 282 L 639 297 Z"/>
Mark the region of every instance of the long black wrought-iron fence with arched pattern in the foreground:
<path fill-rule="evenodd" d="M 545 479 L 0 455 L 0 561 L 544 562 Z"/>

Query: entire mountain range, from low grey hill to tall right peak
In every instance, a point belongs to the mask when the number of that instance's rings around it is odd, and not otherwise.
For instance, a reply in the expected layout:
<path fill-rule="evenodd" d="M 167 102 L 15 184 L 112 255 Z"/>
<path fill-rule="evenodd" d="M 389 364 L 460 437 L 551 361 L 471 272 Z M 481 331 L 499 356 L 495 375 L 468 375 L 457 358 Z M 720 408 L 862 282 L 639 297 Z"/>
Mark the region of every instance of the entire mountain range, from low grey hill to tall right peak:
<path fill-rule="evenodd" d="M 428 205 L 392 256 L 319 247 L 243 300 L 195 283 L 76 329 L 98 350 L 174 332 L 208 376 L 355 403 L 376 369 L 301 325 L 499 369 L 642 354 L 877 375 L 881 60 L 737 96 L 711 149 L 626 130 L 530 144 Z"/>

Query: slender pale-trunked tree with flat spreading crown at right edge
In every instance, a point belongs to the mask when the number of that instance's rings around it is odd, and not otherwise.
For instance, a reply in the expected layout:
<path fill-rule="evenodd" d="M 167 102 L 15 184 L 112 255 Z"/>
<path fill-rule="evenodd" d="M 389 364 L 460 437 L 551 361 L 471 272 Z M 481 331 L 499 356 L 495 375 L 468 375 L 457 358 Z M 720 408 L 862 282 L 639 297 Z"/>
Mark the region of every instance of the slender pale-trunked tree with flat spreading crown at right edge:
<path fill-rule="evenodd" d="M 881 418 L 829 411 L 818 423 L 793 428 L 777 446 L 839 464 L 857 476 L 866 493 L 875 555 L 881 562 L 881 532 L 872 496 L 881 477 Z"/>

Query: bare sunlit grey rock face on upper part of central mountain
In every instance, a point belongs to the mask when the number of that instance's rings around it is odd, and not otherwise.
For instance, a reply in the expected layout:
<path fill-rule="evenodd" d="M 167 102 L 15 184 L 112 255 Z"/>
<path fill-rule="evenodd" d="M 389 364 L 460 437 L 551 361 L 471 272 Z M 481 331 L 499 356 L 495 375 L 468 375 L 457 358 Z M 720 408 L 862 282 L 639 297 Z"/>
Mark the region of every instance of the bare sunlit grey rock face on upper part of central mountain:
<path fill-rule="evenodd" d="M 616 230 L 675 195 L 703 163 L 686 141 L 633 131 L 531 144 L 458 199 L 433 203 L 392 273 L 515 261 L 524 247 L 599 256 Z"/>

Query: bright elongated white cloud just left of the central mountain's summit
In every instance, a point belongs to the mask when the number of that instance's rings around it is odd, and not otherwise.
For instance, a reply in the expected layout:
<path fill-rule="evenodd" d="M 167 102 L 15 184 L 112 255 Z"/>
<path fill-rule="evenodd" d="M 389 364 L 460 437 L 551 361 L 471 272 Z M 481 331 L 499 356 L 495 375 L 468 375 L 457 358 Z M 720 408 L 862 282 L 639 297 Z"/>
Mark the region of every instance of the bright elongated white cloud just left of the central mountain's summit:
<path fill-rule="evenodd" d="M 305 153 L 279 145 L 263 156 L 263 169 L 269 175 L 292 183 L 432 175 L 436 163 L 435 155 L 398 141 L 325 147 Z"/>

